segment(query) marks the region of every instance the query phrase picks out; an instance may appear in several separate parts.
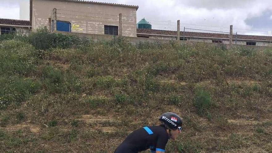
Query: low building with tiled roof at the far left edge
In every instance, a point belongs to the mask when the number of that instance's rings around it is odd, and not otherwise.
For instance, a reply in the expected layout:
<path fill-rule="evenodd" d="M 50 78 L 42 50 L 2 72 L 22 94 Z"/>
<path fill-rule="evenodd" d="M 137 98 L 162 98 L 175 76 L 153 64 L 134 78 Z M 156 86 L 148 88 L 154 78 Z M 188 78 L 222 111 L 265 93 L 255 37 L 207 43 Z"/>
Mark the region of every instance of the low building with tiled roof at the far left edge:
<path fill-rule="evenodd" d="M 27 20 L 0 19 L 0 35 L 6 33 L 28 35 L 30 30 L 31 25 Z"/>

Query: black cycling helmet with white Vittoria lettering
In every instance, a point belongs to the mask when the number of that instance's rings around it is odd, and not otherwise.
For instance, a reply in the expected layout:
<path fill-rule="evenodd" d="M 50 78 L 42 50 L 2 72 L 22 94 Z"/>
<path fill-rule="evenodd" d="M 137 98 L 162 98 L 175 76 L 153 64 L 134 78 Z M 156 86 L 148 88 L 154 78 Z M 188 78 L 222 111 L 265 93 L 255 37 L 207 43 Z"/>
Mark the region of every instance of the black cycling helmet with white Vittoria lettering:
<path fill-rule="evenodd" d="M 164 113 L 159 117 L 159 121 L 167 125 L 170 129 L 176 130 L 182 126 L 182 119 L 175 113 Z"/>

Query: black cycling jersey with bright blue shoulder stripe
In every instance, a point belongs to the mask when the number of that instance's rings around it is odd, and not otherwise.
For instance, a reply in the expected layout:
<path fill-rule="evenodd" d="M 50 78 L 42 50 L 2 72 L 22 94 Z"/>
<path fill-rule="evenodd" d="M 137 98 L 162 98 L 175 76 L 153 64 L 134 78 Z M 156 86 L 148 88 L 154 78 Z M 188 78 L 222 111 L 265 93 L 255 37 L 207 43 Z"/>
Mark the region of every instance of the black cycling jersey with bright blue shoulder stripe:
<path fill-rule="evenodd" d="M 148 126 L 133 131 L 117 147 L 115 153 L 137 153 L 150 148 L 151 152 L 164 152 L 168 133 L 163 126 Z"/>

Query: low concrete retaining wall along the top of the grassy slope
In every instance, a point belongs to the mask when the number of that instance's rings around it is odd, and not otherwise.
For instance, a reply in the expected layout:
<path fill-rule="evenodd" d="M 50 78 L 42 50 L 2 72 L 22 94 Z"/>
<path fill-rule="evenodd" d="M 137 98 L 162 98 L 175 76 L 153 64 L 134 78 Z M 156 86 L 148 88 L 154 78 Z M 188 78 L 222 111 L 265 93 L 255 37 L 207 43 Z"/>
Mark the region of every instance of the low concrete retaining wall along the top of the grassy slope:
<path fill-rule="evenodd" d="M 91 40 L 111 40 L 113 39 L 113 36 L 110 35 L 97 35 L 97 34 L 87 34 L 87 33 L 75 33 L 75 32 L 56 32 L 61 33 L 63 35 L 77 35 L 79 37 L 87 37 Z M 156 39 L 156 38 L 142 38 L 142 37 L 129 37 L 126 36 L 126 39 L 128 39 L 132 44 L 136 45 L 139 42 L 161 42 L 161 43 L 168 43 L 172 40 L 166 40 L 166 39 Z M 179 44 L 192 44 L 192 45 L 199 45 L 199 44 L 205 44 L 210 46 L 216 46 L 219 45 L 219 43 L 211 43 L 211 42 L 196 42 L 196 41 L 183 41 L 183 40 L 175 40 Z M 247 49 L 256 49 L 256 50 L 263 50 L 263 49 L 272 49 L 270 46 L 250 46 L 250 45 L 238 45 L 238 44 L 222 44 L 225 45 L 227 48 L 247 48 Z"/>

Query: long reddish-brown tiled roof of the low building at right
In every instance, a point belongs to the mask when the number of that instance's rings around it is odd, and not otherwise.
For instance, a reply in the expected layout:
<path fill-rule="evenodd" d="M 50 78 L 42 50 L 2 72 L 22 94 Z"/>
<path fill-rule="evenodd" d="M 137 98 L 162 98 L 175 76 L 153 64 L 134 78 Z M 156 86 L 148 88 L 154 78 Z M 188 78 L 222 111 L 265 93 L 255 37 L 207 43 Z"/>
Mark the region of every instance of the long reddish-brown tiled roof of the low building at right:
<path fill-rule="evenodd" d="M 137 29 L 137 33 L 157 34 L 157 35 L 176 35 L 176 31 L 155 30 L 155 29 Z M 184 34 L 183 34 L 184 33 Z M 211 37 L 211 38 L 229 38 L 228 34 L 221 33 L 205 33 L 205 32 L 180 32 L 180 36 L 187 37 Z M 233 35 L 233 39 L 235 39 Z M 252 36 L 252 35 L 237 35 L 237 39 L 247 40 L 272 40 L 272 36 Z"/>

